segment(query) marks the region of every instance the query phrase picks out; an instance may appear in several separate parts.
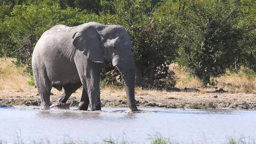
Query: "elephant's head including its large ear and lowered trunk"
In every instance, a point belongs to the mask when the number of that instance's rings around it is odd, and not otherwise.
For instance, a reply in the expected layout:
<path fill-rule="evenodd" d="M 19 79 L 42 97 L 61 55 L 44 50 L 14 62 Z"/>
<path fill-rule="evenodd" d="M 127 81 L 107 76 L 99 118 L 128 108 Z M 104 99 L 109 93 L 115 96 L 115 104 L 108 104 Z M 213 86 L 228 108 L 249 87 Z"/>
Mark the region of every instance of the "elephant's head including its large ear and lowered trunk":
<path fill-rule="evenodd" d="M 74 34 L 73 45 L 94 63 L 103 63 L 107 60 L 113 66 L 117 66 L 125 81 L 129 108 L 138 111 L 134 97 L 135 63 L 131 40 L 125 28 L 117 25 L 83 27 Z"/>

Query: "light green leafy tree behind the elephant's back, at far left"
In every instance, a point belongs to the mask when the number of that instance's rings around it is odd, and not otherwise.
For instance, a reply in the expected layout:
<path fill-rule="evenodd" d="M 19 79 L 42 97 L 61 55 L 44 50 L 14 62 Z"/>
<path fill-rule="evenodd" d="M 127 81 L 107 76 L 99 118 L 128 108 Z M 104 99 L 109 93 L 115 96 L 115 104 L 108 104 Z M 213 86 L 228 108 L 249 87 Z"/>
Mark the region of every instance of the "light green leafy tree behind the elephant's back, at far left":
<path fill-rule="evenodd" d="M 72 27 L 91 20 L 97 21 L 100 18 L 76 8 L 60 9 L 58 5 L 17 5 L 0 24 L 0 52 L 2 55 L 16 57 L 16 64 L 26 64 L 27 72 L 32 74 L 32 52 L 46 30 L 57 24 Z"/>

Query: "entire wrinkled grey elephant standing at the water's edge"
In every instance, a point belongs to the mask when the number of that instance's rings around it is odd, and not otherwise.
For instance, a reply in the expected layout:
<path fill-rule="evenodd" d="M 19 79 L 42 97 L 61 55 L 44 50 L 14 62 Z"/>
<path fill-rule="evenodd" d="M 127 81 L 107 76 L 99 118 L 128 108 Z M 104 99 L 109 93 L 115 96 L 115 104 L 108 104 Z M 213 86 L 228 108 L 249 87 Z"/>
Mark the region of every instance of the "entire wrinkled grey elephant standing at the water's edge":
<path fill-rule="evenodd" d="M 112 63 L 123 74 L 129 108 L 135 105 L 135 63 L 131 41 L 125 28 L 95 22 L 76 27 L 57 25 L 38 40 L 32 55 L 35 84 L 41 96 L 41 108 L 49 109 L 50 91 L 64 89 L 59 102 L 83 86 L 80 110 L 101 110 L 100 72 Z"/>

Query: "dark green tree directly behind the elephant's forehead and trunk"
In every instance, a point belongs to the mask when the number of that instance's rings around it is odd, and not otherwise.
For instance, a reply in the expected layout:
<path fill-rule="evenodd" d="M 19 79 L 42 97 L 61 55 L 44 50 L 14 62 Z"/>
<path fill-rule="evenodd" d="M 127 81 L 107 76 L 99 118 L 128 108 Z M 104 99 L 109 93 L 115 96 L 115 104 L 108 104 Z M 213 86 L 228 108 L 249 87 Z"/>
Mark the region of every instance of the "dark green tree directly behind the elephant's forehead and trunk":
<path fill-rule="evenodd" d="M 163 21 L 156 18 L 158 14 L 154 11 L 161 2 L 114 0 L 114 14 L 104 15 L 108 19 L 104 21 L 108 24 L 119 24 L 128 31 L 137 69 L 136 80 L 142 87 L 151 87 L 155 81 L 166 78 L 169 75 L 169 64 L 175 56 L 177 45 L 173 43 L 174 27 L 163 26 Z"/>

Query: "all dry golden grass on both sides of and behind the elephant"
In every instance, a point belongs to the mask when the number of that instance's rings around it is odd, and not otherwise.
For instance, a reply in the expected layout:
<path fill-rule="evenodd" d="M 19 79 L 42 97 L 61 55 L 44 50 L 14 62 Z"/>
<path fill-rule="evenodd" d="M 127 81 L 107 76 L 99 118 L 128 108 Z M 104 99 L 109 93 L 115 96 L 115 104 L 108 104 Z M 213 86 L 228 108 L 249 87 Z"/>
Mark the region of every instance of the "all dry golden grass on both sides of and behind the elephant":
<path fill-rule="evenodd" d="M 0 58 L 0 91 L 16 91 L 16 92 L 36 92 L 37 89 L 33 86 L 29 86 L 27 81 L 30 77 L 24 74 L 24 67 L 16 67 L 12 61 L 15 59 L 1 57 Z M 184 88 L 197 88 L 200 90 L 201 94 L 206 91 L 213 91 L 212 88 L 203 88 L 201 81 L 197 78 L 190 76 L 187 72 L 177 64 L 172 64 L 170 70 L 175 72 L 175 77 L 177 78 L 176 87 L 180 89 Z M 230 93 L 254 93 L 256 94 L 256 76 L 247 76 L 242 70 L 238 73 L 230 73 L 214 78 L 217 81 L 217 87 L 224 90 L 228 90 Z M 82 91 L 79 89 L 78 91 Z M 125 95 L 124 89 L 116 89 L 114 87 L 105 86 L 103 93 L 119 93 L 119 95 Z M 52 90 L 55 94 L 60 94 L 61 91 Z M 158 90 L 142 90 L 141 88 L 136 88 L 136 95 L 151 95 L 154 93 L 159 93 Z M 161 91 L 164 92 L 165 91 Z"/>

